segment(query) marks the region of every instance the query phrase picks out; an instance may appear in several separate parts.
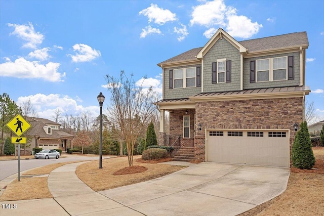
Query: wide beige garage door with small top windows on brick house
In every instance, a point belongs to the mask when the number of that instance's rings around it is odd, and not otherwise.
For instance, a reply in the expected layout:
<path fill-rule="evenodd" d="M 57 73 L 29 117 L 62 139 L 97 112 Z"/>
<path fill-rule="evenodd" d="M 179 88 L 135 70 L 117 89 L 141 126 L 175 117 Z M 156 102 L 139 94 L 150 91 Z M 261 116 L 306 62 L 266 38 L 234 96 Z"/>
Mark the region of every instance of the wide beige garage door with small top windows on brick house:
<path fill-rule="evenodd" d="M 207 161 L 289 167 L 289 131 L 207 131 Z"/>

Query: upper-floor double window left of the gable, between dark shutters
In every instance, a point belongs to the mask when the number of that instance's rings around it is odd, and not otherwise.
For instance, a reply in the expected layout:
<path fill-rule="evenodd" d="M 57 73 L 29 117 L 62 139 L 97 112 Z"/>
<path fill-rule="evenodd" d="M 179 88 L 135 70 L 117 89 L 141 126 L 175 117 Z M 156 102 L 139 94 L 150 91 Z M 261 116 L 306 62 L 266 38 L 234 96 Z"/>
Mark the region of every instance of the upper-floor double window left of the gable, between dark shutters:
<path fill-rule="evenodd" d="M 174 69 L 174 88 L 196 87 L 196 68 Z"/>

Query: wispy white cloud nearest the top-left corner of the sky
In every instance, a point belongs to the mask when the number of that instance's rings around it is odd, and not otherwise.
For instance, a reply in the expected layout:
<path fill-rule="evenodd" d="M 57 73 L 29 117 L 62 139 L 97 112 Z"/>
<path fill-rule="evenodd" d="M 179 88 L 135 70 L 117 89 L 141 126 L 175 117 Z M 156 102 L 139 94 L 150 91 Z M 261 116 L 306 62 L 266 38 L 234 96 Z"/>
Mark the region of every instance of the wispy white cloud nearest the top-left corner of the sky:
<path fill-rule="evenodd" d="M 35 49 L 37 45 L 42 44 L 45 36 L 39 32 L 36 32 L 32 23 L 28 25 L 8 24 L 9 27 L 15 27 L 15 30 L 10 35 L 16 35 L 17 37 L 26 41 L 23 48 Z"/>

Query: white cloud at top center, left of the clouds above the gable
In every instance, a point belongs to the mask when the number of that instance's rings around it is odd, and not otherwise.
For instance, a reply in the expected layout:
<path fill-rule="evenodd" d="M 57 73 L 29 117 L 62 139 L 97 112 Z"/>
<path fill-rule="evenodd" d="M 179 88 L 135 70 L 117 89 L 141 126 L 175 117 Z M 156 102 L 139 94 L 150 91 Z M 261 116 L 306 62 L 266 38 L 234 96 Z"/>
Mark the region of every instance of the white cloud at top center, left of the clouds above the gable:
<path fill-rule="evenodd" d="M 151 4 L 150 7 L 139 12 L 139 15 L 147 16 L 148 22 L 154 22 L 159 25 L 164 25 L 166 22 L 176 21 L 176 14 L 169 10 L 159 8 L 157 5 Z"/>

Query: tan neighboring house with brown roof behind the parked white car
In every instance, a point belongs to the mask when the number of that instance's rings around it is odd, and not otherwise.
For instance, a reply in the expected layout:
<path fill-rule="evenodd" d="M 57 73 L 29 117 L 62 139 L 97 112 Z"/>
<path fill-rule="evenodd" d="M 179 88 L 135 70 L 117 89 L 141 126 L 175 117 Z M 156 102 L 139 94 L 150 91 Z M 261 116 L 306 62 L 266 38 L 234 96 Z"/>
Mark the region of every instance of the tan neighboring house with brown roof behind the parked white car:
<path fill-rule="evenodd" d="M 61 149 L 73 148 L 73 135 L 61 131 L 61 124 L 46 118 L 26 117 L 31 128 L 26 132 L 29 148 Z M 28 145 L 27 144 L 27 145 Z"/>

